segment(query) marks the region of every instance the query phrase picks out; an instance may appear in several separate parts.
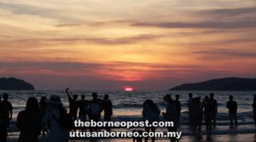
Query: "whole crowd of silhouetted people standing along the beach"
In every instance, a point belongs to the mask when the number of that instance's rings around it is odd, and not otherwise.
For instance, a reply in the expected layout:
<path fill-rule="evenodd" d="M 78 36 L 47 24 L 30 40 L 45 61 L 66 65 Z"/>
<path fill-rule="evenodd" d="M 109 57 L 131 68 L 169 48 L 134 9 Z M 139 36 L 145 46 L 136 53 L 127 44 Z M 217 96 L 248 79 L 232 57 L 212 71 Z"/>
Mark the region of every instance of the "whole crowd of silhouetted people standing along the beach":
<path fill-rule="evenodd" d="M 92 93 L 92 100 L 86 100 L 85 95 L 81 95 L 78 100 L 78 94 L 70 95 L 69 89 L 65 89 L 69 101 L 69 112 L 63 107 L 60 96 L 52 94 L 50 98 L 41 97 L 40 102 L 35 97 L 28 98 L 26 109 L 19 112 L 16 121 L 16 127 L 20 131 L 19 142 L 37 142 L 40 135 L 47 134 L 47 140 L 50 142 L 60 141 L 68 142 L 69 131 L 75 129 L 73 121 L 79 119 L 81 121 L 101 121 L 101 113 L 104 111 L 104 121 L 112 120 L 112 102 L 108 94 L 103 99 L 98 99 L 97 93 Z M 9 102 L 9 94 L 4 93 L 1 100 L 0 95 L 0 141 L 5 142 L 7 137 L 7 128 L 12 119 L 12 105 Z M 174 121 L 174 127 L 167 128 L 168 131 L 177 131 L 179 119 L 181 116 L 181 102 L 179 95 L 176 94 L 175 100 L 171 94 L 164 96 L 166 102 L 166 111 L 162 112 L 165 121 Z M 206 96 L 201 102 L 201 97 L 193 97 L 192 93 L 188 94 L 188 125 L 191 126 L 195 136 L 201 136 L 201 126 L 204 119 L 206 125 L 206 135 L 210 138 L 212 127 L 216 127 L 216 114 L 218 113 L 218 103 L 214 99 L 214 94 L 210 93 L 210 97 Z M 230 126 L 238 126 L 237 111 L 238 103 L 233 100 L 230 95 L 226 104 L 228 109 L 228 117 Z M 253 119 L 256 125 L 256 94 L 252 104 Z M 79 113 L 78 113 L 79 110 Z M 146 99 L 143 103 L 142 118 L 143 121 L 159 121 L 161 111 L 159 107 L 151 99 Z M 89 128 L 90 129 L 90 128 Z M 86 130 L 85 130 L 86 131 Z M 97 131 L 97 129 L 90 129 Z M 141 130 L 134 130 L 140 131 Z M 146 127 L 145 131 L 156 131 L 155 127 Z M 142 141 L 142 138 L 134 138 L 134 141 Z M 149 138 L 145 138 L 149 141 Z M 151 138 L 154 142 L 155 138 Z M 171 142 L 178 141 L 171 138 Z"/>

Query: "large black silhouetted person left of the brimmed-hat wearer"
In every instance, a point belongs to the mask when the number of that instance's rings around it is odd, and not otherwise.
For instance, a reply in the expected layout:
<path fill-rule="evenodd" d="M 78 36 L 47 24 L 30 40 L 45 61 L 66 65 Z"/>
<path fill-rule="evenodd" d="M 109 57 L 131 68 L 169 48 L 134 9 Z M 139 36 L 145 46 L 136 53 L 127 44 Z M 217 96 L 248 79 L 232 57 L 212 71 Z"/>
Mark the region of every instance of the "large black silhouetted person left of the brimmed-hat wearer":
<path fill-rule="evenodd" d="M 38 100 L 30 97 L 26 102 L 26 109 L 17 116 L 16 126 L 21 131 L 18 142 L 38 142 L 41 122 Z"/>

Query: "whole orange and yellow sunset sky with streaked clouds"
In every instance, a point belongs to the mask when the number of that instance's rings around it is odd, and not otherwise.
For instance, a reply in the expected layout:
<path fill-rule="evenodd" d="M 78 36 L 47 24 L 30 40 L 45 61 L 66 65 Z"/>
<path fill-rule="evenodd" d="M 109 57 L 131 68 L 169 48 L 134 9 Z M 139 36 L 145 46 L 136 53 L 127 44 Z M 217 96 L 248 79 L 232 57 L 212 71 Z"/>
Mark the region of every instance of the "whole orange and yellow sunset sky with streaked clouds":
<path fill-rule="evenodd" d="M 0 0 L 0 77 L 169 89 L 256 77 L 255 0 Z"/>

